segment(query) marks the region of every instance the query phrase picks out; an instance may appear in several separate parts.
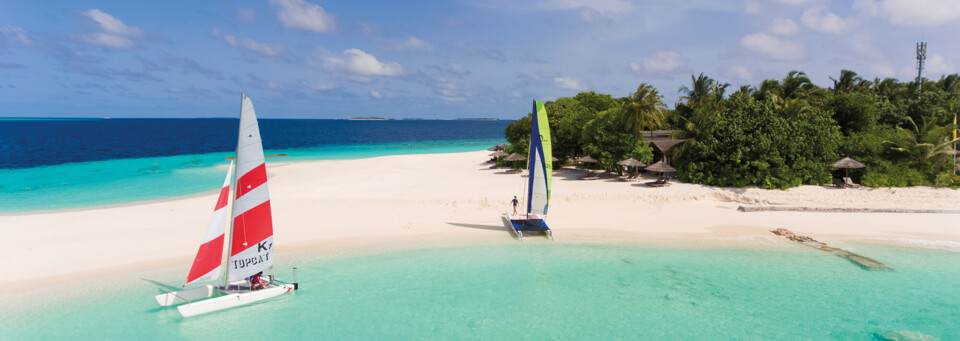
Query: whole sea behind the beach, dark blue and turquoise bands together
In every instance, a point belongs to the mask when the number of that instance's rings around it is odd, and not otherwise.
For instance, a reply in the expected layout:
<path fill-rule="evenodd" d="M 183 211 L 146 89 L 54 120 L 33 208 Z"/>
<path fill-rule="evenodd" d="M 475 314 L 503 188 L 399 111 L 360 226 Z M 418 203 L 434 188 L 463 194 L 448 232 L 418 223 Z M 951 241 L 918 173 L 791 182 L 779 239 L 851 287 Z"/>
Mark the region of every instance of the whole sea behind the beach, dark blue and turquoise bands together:
<path fill-rule="evenodd" d="M 484 150 L 510 121 L 262 119 L 267 162 Z M 237 119 L 0 120 L 0 213 L 81 208 L 215 190 Z"/>

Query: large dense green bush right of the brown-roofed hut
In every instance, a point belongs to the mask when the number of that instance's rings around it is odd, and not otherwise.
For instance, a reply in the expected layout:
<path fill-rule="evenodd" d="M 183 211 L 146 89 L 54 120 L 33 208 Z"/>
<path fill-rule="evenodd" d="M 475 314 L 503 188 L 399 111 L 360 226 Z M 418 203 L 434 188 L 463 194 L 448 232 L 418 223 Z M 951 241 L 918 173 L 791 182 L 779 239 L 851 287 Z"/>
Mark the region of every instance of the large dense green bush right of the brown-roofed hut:
<path fill-rule="evenodd" d="M 734 100 L 711 134 L 677 160 L 680 179 L 715 186 L 789 188 L 828 183 L 839 129 L 825 115 L 790 121 L 769 103 Z"/>

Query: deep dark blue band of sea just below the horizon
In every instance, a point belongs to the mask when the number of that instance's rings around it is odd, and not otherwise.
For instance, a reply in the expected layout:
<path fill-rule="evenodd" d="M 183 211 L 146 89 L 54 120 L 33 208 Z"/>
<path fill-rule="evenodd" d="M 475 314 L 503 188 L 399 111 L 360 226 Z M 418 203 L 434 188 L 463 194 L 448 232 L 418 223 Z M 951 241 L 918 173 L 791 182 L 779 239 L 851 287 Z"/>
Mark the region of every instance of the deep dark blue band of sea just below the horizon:
<path fill-rule="evenodd" d="M 510 121 L 261 119 L 264 149 L 500 139 Z M 238 119 L 0 120 L 0 168 L 233 151 Z"/>

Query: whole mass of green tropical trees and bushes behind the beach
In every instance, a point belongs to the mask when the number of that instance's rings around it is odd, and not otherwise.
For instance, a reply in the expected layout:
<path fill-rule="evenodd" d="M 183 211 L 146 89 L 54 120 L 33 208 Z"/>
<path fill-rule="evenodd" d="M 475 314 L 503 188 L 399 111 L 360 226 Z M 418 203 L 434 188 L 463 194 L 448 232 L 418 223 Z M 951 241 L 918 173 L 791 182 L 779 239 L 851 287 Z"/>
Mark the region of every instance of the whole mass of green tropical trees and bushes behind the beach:
<path fill-rule="evenodd" d="M 560 163 L 590 155 L 607 170 L 633 157 L 653 159 L 644 131 L 674 130 L 669 153 L 681 181 L 728 187 L 789 188 L 830 184 L 851 157 L 870 187 L 960 186 L 954 171 L 954 115 L 960 75 L 917 82 L 868 80 L 850 70 L 819 87 L 803 72 L 730 92 L 730 84 L 691 75 L 669 109 L 653 86 L 626 97 L 581 92 L 545 103 L 553 155 Z M 530 116 L 506 128 L 507 152 L 525 154 Z"/>

